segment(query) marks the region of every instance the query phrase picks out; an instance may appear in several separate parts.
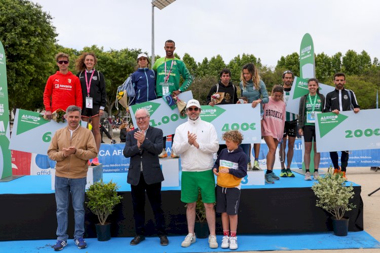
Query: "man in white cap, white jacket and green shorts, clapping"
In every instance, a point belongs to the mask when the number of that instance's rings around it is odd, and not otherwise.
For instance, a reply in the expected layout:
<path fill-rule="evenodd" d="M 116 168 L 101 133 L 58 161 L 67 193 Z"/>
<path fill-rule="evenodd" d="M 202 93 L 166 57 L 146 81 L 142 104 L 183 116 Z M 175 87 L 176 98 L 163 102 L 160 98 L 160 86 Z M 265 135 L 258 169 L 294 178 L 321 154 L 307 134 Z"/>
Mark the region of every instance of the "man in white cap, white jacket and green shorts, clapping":
<path fill-rule="evenodd" d="M 218 137 L 213 125 L 200 118 L 201 105 L 191 99 L 186 104 L 187 122 L 175 130 L 172 150 L 181 155 L 181 201 L 187 203 L 186 218 L 188 234 L 182 247 L 196 241 L 195 208 L 199 189 L 206 209 L 206 219 L 210 230 L 208 239 L 211 248 L 217 248 L 215 235 L 215 179 L 212 173 L 213 153 L 219 149 Z"/>

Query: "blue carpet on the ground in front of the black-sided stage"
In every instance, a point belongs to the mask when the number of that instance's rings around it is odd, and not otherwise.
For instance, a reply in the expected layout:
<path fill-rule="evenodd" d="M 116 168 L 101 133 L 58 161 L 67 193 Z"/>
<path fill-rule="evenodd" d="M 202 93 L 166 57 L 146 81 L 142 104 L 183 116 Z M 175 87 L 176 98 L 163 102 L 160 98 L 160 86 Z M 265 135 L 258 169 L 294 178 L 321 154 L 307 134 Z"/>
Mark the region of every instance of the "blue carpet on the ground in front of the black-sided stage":
<path fill-rule="evenodd" d="M 197 241 L 187 248 L 181 247 L 184 236 L 169 236 L 169 245 L 161 246 L 158 237 L 148 237 L 139 245 L 131 246 L 132 238 L 111 238 L 106 242 L 99 242 L 96 238 L 86 239 L 88 247 L 79 250 L 73 240 L 68 240 L 68 245 L 62 252 L 224 252 L 230 249 L 220 248 L 221 236 L 217 236 L 219 247 L 211 249 L 207 239 Z M 30 241 L 2 241 L 0 252 L 53 252 L 51 248 L 55 240 L 30 240 Z M 308 234 L 277 234 L 277 235 L 241 235 L 238 237 L 239 248 L 236 251 L 253 250 L 303 250 L 303 249 L 348 249 L 348 248 L 380 248 L 380 243 L 365 231 L 350 232 L 346 237 L 339 237 L 327 233 Z"/>

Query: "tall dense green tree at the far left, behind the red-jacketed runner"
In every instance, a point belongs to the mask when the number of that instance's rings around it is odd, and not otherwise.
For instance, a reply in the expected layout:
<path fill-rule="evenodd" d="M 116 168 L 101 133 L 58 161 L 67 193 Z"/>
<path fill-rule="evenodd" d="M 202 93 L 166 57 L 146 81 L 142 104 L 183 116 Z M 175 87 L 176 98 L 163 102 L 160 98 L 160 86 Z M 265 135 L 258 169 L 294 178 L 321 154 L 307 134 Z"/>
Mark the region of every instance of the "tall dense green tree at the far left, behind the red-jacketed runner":
<path fill-rule="evenodd" d="M 39 4 L 26 0 L 0 2 L 0 41 L 7 57 L 10 108 L 43 106 L 47 78 L 54 69 L 55 27 Z"/>

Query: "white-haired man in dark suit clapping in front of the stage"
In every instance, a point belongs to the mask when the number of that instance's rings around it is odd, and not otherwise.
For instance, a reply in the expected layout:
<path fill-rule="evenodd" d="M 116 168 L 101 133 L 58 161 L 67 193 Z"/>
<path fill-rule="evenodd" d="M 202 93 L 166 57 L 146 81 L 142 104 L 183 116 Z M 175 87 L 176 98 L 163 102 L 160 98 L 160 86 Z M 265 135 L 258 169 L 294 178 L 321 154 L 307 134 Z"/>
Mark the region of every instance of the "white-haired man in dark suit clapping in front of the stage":
<path fill-rule="evenodd" d="M 131 184 L 133 216 L 136 236 L 131 245 L 145 240 L 145 191 L 155 214 L 160 244 L 169 244 L 165 232 L 164 211 L 161 207 L 161 182 L 164 180 L 158 155 L 162 152 L 163 133 L 161 129 L 149 126 L 149 112 L 137 110 L 137 128 L 126 136 L 124 156 L 130 157 L 127 183 Z"/>

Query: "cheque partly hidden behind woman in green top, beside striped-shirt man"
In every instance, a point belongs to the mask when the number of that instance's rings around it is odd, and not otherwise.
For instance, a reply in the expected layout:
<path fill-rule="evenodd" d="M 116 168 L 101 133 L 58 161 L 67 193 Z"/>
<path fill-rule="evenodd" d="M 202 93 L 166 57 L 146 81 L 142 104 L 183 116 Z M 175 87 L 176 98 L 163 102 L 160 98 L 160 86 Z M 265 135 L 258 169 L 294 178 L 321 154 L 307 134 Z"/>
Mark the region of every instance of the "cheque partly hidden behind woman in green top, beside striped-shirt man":
<path fill-rule="evenodd" d="M 286 103 L 286 112 L 293 114 L 299 113 L 299 100 L 302 96 L 309 93 L 308 80 L 299 77 L 294 77 L 292 89 L 290 90 L 289 98 Z M 327 93 L 333 91 L 335 87 L 319 83 L 319 92 L 325 97 Z"/>

